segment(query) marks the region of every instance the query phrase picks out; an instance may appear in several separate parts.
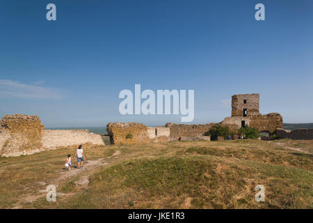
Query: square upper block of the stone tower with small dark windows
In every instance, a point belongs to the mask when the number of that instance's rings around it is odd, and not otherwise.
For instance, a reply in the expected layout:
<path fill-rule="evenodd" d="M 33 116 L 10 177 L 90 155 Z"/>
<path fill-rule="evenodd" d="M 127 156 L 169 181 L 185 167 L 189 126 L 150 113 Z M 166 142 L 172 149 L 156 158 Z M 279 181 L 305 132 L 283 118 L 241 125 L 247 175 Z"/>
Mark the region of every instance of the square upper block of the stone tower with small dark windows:
<path fill-rule="evenodd" d="M 232 95 L 232 117 L 261 116 L 259 113 L 259 93 Z"/>

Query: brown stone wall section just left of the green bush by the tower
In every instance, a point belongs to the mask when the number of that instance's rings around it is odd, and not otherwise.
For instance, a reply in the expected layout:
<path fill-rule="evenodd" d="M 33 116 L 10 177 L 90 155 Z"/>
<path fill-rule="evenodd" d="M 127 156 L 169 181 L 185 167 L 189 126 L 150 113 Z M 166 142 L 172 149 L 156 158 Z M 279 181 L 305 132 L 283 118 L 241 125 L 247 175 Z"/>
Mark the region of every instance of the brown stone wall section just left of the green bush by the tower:
<path fill-rule="evenodd" d="M 212 125 L 214 123 L 198 125 L 166 123 L 166 127 L 170 128 L 170 140 L 172 141 L 204 139 L 203 137 L 209 133 Z"/>

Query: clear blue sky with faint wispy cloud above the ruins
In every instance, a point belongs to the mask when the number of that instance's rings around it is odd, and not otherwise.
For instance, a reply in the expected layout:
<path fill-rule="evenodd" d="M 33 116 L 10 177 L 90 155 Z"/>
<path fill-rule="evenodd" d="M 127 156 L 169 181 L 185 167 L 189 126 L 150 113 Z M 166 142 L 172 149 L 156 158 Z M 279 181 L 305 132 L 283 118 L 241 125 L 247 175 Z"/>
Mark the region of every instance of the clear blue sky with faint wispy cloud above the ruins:
<path fill-rule="evenodd" d="M 55 3 L 57 21 L 46 20 Z M 254 9 L 264 3 L 266 20 Z M 46 127 L 180 116 L 122 116 L 122 89 L 195 90 L 193 123 L 230 116 L 231 95 L 260 93 L 260 112 L 313 122 L 313 1 L 0 2 L 0 116 Z"/>

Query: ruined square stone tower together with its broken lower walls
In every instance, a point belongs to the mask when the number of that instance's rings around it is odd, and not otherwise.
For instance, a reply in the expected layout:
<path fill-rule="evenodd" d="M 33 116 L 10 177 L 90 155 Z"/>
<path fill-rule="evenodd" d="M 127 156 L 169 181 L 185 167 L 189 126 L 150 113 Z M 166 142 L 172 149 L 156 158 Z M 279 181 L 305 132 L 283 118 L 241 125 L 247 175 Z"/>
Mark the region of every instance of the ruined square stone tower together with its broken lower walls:
<path fill-rule="evenodd" d="M 234 132 L 248 125 L 259 132 L 273 134 L 276 129 L 282 128 L 282 116 L 279 113 L 259 113 L 258 93 L 232 95 L 232 116 L 225 118 L 222 125 L 229 126 Z"/>

